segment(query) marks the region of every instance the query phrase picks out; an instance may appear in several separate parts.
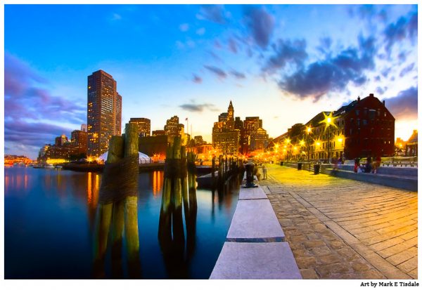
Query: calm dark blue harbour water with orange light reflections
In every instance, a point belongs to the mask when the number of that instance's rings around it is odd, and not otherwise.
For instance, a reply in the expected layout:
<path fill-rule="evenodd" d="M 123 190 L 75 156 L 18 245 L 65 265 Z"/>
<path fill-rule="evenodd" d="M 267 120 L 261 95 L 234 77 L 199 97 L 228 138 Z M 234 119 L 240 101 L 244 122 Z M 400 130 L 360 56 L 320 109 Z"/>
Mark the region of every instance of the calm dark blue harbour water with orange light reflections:
<path fill-rule="evenodd" d="M 225 192 L 196 190 L 196 218 L 188 227 L 183 218 L 181 244 L 169 247 L 158 241 L 164 173 L 140 173 L 135 257 L 126 237 L 116 255 L 109 234 L 104 259 L 94 266 L 101 249 L 101 174 L 31 167 L 4 171 L 6 279 L 208 279 L 238 200 L 236 184 Z M 176 235 L 170 239 L 179 239 Z"/>

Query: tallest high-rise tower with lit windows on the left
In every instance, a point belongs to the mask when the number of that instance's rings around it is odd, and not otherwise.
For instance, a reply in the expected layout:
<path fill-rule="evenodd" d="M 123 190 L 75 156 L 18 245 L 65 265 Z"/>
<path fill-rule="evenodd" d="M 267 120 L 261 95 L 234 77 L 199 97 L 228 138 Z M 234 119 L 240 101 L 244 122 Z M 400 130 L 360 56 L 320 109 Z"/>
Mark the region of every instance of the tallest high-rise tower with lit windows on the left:
<path fill-rule="evenodd" d="M 108 150 L 111 136 L 121 135 L 122 96 L 113 77 L 98 70 L 88 76 L 88 154 L 98 157 Z"/>

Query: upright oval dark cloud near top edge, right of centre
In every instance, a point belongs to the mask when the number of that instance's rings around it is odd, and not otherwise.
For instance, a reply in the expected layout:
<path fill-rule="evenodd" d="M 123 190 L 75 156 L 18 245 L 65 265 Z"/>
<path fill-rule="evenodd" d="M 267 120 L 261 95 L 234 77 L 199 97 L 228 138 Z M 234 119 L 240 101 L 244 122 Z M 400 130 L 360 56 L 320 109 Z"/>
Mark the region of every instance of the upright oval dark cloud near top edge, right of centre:
<path fill-rule="evenodd" d="M 264 8 L 250 8 L 245 11 L 246 25 L 260 48 L 267 48 L 274 31 L 275 18 Z"/>

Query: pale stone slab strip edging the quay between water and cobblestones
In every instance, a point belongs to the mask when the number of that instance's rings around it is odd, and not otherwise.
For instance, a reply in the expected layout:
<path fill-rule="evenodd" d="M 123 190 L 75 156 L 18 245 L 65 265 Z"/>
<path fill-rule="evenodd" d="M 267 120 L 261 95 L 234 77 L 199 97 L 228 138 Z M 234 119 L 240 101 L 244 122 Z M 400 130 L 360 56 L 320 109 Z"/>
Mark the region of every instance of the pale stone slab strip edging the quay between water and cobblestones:
<path fill-rule="evenodd" d="M 226 242 L 210 279 L 302 279 L 262 187 L 241 187 Z"/>

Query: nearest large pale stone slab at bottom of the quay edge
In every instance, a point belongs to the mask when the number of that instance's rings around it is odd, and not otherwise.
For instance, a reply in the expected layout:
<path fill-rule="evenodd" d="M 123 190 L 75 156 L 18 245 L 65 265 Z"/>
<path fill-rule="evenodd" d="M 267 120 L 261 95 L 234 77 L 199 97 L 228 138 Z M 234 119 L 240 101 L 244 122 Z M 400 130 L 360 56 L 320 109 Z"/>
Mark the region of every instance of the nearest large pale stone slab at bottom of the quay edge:
<path fill-rule="evenodd" d="M 302 279 L 286 242 L 225 242 L 210 279 Z"/>

